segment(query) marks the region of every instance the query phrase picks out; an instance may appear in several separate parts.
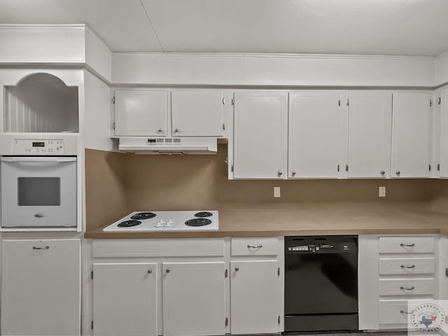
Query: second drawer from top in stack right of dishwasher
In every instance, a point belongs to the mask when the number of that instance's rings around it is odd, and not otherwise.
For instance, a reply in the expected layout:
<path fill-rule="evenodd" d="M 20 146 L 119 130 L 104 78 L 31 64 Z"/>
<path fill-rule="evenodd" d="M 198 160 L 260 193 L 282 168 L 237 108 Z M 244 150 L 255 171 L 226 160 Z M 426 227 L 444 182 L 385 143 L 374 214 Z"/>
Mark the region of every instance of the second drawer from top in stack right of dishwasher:
<path fill-rule="evenodd" d="M 379 274 L 432 274 L 434 258 L 381 258 Z"/>

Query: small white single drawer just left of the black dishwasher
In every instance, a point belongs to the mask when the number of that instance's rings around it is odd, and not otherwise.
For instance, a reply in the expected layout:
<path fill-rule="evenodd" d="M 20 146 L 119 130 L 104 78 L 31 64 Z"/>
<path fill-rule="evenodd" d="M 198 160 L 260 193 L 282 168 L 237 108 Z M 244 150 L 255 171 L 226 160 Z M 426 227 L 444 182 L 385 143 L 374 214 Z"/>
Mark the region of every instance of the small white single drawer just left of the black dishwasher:
<path fill-rule="evenodd" d="M 277 255 L 279 239 L 232 238 L 232 255 Z"/>

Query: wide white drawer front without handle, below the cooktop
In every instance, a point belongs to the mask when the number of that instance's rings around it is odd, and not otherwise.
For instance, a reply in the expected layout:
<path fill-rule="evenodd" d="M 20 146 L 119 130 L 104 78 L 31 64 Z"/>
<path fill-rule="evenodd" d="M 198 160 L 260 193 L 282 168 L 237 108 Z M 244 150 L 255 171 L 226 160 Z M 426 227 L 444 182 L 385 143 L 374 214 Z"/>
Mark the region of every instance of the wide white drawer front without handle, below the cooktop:
<path fill-rule="evenodd" d="M 132 239 L 94 240 L 94 258 L 195 257 L 224 255 L 224 239 Z"/>

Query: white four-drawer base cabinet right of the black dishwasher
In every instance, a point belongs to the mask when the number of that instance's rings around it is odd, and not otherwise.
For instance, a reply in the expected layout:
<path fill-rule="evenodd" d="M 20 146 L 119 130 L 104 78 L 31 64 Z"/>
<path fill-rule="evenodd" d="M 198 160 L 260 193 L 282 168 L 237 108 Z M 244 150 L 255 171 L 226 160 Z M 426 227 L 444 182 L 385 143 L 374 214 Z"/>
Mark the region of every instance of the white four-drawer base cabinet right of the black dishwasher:
<path fill-rule="evenodd" d="M 435 241 L 429 235 L 359 236 L 360 330 L 407 328 L 414 304 L 437 298 Z"/>

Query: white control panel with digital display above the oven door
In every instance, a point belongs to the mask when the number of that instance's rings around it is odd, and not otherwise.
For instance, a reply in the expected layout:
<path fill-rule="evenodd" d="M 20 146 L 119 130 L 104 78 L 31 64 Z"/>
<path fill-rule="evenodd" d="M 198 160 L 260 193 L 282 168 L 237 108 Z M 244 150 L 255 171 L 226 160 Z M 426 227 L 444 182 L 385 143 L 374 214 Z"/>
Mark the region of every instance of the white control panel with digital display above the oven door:
<path fill-rule="evenodd" d="M 64 140 L 62 139 L 14 139 L 13 153 L 22 155 L 63 155 Z"/>

